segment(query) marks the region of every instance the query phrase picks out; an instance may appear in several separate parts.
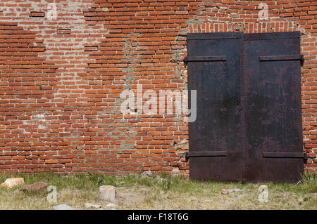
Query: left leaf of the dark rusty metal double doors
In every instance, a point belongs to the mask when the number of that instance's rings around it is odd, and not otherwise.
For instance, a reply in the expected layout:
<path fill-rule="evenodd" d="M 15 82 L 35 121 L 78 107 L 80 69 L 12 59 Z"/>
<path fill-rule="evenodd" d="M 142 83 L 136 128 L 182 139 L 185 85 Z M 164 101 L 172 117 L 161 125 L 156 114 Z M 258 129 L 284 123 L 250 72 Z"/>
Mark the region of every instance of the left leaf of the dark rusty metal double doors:
<path fill-rule="evenodd" d="M 197 90 L 197 119 L 189 123 L 190 178 L 242 178 L 242 37 L 243 33 L 187 35 L 188 89 Z"/>

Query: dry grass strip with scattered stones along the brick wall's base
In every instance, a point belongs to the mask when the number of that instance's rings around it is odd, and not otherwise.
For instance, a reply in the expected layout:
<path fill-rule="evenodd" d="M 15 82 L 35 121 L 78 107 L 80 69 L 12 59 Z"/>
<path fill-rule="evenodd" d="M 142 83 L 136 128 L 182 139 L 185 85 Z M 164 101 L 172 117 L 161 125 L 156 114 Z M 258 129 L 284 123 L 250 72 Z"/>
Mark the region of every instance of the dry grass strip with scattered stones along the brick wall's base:
<path fill-rule="evenodd" d="M 0 183 L 13 176 L 1 175 Z M 0 209 L 51 209 L 68 204 L 75 209 L 83 205 L 107 203 L 98 199 L 101 185 L 117 187 L 116 209 L 317 209 L 316 176 L 306 174 L 297 184 L 290 183 L 217 183 L 199 182 L 173 176 L 61 176 L 52 173 L 15 175 L 25 184 L 42 181 L 57 188 L 57 203 L 46 200 L 48 192 L 23 192 L 19 187 L 0 188 Z M 261 203 L 259 186 L 268 185 L 268 202 Z M 242 192 L 221 195 L 222 189 L 240 188 Z"/>

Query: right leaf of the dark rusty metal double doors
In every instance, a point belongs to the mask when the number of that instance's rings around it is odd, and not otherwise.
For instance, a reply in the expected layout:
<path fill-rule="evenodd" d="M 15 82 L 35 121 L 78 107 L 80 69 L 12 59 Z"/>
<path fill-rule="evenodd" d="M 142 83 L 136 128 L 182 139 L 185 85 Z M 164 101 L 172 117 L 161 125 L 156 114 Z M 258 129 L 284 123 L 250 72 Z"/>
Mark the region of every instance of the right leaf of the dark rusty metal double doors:
<path fill-rule="evenodd" d="M 244 34 L 244 180 L 298 180 L 304 169 L 299 32 Z"/>

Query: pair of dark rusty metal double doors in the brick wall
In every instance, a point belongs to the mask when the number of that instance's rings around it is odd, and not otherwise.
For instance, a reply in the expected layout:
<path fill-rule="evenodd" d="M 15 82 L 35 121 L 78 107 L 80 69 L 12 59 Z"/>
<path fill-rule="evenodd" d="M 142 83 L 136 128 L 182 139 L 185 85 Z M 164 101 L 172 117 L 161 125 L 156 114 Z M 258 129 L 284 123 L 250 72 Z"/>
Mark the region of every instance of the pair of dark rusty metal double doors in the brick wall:
<path fill-rule="evenodd" d="M 299 36 L 187 35 L 188 89 L 197 91 L 197 119 L 189 123 L 190 178 L 300 178 L 304 153 Z"/>

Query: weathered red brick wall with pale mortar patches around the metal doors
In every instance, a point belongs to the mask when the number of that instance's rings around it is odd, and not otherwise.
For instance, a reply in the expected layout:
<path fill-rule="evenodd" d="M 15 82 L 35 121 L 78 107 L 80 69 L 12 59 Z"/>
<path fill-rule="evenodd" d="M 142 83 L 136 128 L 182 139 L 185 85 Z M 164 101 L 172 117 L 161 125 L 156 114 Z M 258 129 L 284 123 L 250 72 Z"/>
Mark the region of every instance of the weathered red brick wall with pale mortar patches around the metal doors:
<path fill-rule="evenodd" d="M 119 95 L 186 89 L 186 34 L 235 31 L 303 33 L 304 150 L 316 171 L 313 0 L 1 0 L 0 171 L 188 174 L 184 116 L 123 115 Z"/>

